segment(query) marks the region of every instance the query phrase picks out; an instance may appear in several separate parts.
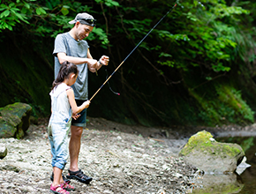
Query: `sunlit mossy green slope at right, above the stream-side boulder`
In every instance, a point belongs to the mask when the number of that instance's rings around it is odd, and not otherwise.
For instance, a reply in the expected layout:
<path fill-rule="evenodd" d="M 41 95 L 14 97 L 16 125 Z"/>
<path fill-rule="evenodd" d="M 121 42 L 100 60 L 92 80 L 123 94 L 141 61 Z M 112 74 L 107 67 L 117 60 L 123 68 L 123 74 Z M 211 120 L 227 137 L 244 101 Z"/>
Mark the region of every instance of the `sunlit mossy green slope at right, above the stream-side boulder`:
<path fill-rule="evenodd" d="M 207 96 L 190 91 L 200 103 L 199 117 L 207 124 L 212 123 L 253 123 L 254 112 L 242 99 L 241 91 L 233 86 L 215 85 L 215 91 Z M 216 98 L 213 98 L 217 96 Z"/>

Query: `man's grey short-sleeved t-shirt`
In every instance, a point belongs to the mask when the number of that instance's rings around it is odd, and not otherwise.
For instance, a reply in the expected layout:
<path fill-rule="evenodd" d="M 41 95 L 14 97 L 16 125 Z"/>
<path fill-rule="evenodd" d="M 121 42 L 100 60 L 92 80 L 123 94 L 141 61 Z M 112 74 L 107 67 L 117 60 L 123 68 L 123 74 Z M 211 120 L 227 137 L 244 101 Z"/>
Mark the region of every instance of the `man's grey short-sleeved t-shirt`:
<path fill-rule="evenodd" d="M 56 36 L 53 55 L 55 60 L 55 78 L 61 64 L 56 56 L 57 53 L 65 53 L 67 56 L 86 57 L 87 49 L 89 48 L 87 41 L 76 41 L 69 33 L 58 34 Z M 88 68 L 87 63 L 77 65 L 79 76 L 77 81 L 72 86 L 75 93 L 75 99 L 86 101 L 88 99 Z"/>

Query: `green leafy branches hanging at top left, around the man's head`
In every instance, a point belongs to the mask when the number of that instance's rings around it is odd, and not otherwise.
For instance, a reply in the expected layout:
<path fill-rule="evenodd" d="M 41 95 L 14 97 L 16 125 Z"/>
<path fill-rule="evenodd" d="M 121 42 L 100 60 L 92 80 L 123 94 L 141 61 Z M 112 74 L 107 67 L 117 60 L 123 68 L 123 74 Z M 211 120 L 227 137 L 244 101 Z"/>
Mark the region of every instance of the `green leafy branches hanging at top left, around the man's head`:
<path fill-rule="evenodd" d="M 96 1 L 98 4 L 105 4 L 113 7 L 119 4 L 112 0 Z M 68 22 L 76 16 L 78 12 L 91 11 L 91 8 L 79 2 L 70 1 L 34 1 L 25 0 L 12 2 L 11 0 L 4 0 L 0 4 L 0 32 L 1 30 L 13 30 L 13 27 L 18 24 L 26 26 L 27 33 L 39 36 L 56 37 L 56 34 L 64 33 L 66 29 L 72 26 Z M 92 11 L 93 12 L 93 11 Z M 22 24 L 22 22 L 24 24 Z M 98 27 L 94 30 L 89 41 L 100 41 L 103 48 L 108 45 L 108 35 L 105 31 Z"/>

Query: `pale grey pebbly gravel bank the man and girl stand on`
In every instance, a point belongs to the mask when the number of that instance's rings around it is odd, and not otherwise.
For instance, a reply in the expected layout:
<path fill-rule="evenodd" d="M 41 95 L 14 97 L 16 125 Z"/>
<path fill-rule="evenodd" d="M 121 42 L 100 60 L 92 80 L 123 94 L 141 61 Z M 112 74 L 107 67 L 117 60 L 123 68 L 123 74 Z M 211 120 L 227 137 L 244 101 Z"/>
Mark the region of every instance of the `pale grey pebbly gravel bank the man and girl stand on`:
<path fill-rule="evenodd" d="M 49 193 L 51 174 L 48 119 L 31 124 L 23 139 L 3 138 L 0 193 Z M 72 180 L 71 193 L 192 193 L 200 187 L 196 168 L 177 156 L 187 139 L 164 129 L 127 126 L 89 118 L 81 139 L 79 168 L 94 180 Z M 67 173 L 67 164 L 64 174 Z"/>

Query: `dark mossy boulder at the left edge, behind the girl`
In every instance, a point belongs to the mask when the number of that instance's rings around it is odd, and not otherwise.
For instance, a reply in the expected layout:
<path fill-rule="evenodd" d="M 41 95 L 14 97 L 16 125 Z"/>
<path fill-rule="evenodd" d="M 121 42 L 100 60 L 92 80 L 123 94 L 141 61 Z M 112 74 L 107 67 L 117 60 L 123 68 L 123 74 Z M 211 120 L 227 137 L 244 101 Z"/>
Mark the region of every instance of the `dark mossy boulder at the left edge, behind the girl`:
<path fill-rule="evenodd" d="M 0 138 L 23 138 L 31 111 L 28 104 L 21 102 L 0 108 Z"/>

